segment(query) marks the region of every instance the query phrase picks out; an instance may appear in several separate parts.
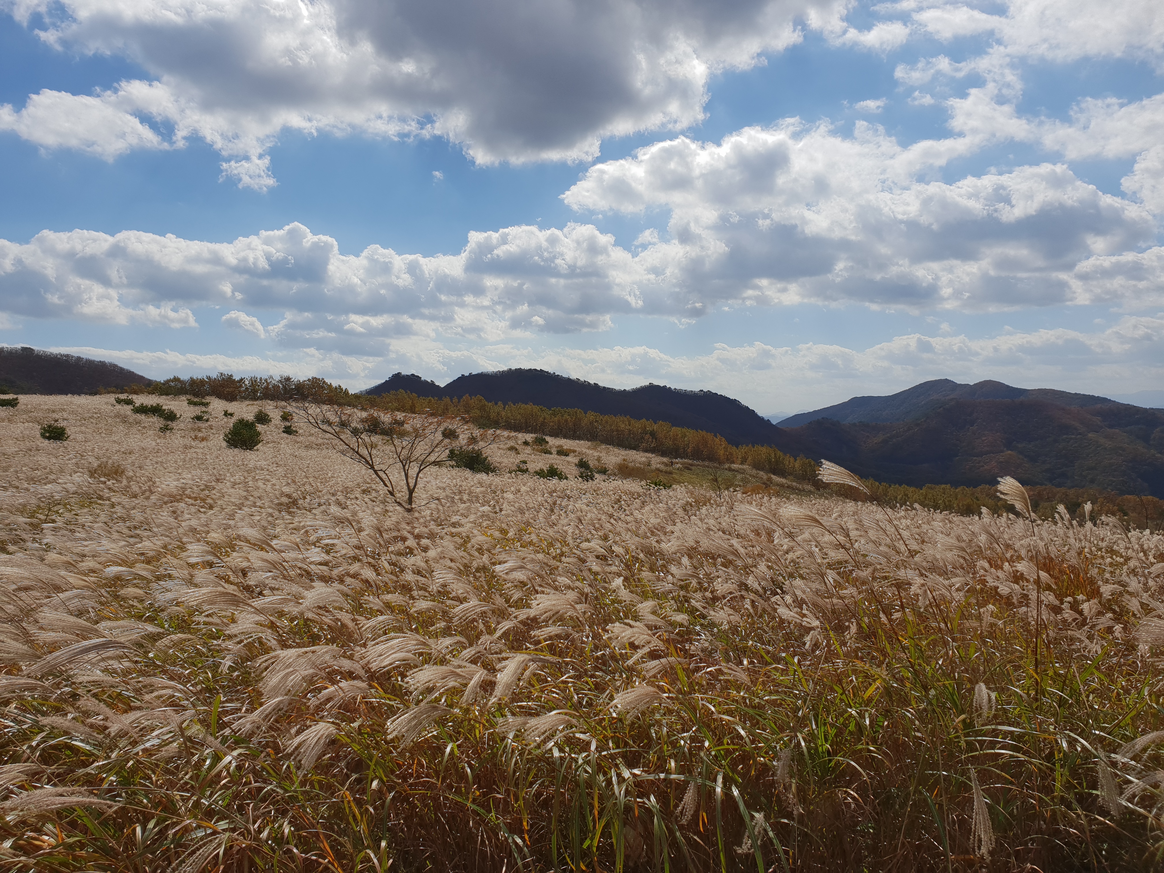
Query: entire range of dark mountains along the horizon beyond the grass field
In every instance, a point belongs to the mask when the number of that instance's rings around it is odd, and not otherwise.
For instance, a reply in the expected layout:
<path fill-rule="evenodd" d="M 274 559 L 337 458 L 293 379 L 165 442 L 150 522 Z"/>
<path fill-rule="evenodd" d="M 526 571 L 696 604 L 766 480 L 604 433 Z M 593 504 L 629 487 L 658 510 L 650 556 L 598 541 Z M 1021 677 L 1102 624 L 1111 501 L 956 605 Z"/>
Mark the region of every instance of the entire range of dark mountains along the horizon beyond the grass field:
<path fill-rule="evenodd" d="M 8 391 L 92 393 L 150 382 L 107 361 L 0 347 L 0 389 Z M 655 384 L 624 390 L 545 370 L 476 372 L 446 385 L 398 372 L 364 393 L 398 390 L 669 421 L 736 445 L 829 459 L 881 482 L 979 485 L 1008 475 L 1032 485 L 1164 498 L 1164 410 L 1070 391 L 934 379 L 797 413 L 776 426 L 714 391 Z"/>

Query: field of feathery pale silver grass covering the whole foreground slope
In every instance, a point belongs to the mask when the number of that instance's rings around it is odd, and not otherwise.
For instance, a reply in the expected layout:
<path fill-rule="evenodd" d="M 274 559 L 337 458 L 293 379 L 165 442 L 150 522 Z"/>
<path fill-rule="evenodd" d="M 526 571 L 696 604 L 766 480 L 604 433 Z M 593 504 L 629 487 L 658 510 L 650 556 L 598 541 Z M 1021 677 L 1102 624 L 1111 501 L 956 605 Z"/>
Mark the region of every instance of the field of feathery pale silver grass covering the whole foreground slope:
<path fill-rule="evenodd" d="M 165 402 L 0 410 L 2 871 L 1164 867 L 1164 537 Z"/>

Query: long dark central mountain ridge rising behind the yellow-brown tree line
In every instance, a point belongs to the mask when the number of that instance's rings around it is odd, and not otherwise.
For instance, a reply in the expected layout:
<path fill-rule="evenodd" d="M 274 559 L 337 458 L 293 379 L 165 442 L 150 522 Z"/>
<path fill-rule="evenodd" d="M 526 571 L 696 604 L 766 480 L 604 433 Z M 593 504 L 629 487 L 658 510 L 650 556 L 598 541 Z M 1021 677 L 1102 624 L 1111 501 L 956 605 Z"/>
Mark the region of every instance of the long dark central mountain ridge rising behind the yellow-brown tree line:
<path fill-rule="evenodd" d="M 666 385 L 629 390 L 606 388 L 546 370 L 501 370 L 461 376 L 440 388 L 419 376 L 396 374 L 364 393 L 411 391 L 421 397 L 483 397 L 491 403 L 532 403 L 551 409 L 576 409 L 604 416 L 630 416 L 668 421 L 676 427 L 718 433 L 736 445 L 774 445 L 788 440 L 780 428 L 739 400 L 714 391 L 683 391 Z M 795 448 L 795 446 L 790 446 Z"/>

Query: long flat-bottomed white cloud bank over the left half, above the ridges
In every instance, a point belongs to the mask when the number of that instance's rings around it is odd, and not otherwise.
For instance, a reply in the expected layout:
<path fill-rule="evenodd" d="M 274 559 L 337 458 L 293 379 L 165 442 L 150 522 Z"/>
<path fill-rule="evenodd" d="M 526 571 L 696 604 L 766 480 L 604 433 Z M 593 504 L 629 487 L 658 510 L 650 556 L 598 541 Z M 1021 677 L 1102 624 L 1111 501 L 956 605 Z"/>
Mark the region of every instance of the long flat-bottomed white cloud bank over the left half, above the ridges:
<path fill-rule="evenodd" d="M 230 243 L 45 230 L 23 246 L 0 241 L 0 310 L 192 326 L 189 307 L 246 305 L 286 312 L 270 333 L 293 345 L 350 347 L 436 327 L 488 340 L 605 328 L 643 308 L 637 271 L 590 225 L 471 233 L 459 255 L 435 257 L 379 246 L 341 255 L 334 239 L 297 223 Z"/>

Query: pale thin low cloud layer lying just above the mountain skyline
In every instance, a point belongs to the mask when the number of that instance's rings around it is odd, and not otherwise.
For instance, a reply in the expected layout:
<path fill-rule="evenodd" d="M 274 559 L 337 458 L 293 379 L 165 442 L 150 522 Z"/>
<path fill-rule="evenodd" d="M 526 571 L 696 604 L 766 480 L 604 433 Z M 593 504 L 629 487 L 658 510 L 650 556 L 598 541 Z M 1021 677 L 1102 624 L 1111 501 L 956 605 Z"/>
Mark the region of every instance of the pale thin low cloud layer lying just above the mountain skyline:
<path fill-rule="evenodd" d="M 1072 329 L 1007 331 L 994 336 L 914 333 L 865 348 L 803 343 L 716 343 L 707 352 L 672 355 L 651 346 L 553 349 L 514 343 L 450 348 L 406 336 L 376 355 L 308 347 L 293 356 L 200 355 L 88 347 L 54 352 L 115 361 L 155 378 L 219 370 L 296 378 L 324 376 L 352 389 L 367 388 L 397 370 L 419 371 L 439 383 L 462 372 L 534 367 L 616 388 L 647 382 L 709 389 L 737 397 L 760 412 L 818 409 L 856 395 L 893 393 L 931 378 L 999 379 L 1022 388 L 1059 388 L 1098 395 L 1136 391 L 1164 381 L 1164 312 L 1126 317 L 1093 333 Z"/>

